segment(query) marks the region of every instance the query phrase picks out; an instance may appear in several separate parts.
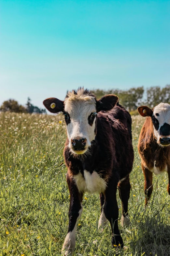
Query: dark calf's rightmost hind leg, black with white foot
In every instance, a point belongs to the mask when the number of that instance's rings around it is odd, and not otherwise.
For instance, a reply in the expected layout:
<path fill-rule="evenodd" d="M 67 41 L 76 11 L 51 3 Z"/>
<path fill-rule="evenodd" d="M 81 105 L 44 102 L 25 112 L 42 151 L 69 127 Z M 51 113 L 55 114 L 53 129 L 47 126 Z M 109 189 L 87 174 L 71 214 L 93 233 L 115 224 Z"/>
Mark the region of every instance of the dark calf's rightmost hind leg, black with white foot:
<path fill-rule="evenodd" d="M 130 225 L 130 219 L 128 215 L 128 200 L 131 190 L 129 175 L 122 179 L 122 181 L 120 180 L 118 183 L 118 189 L 122 204 L 121 226 L 128 227 Z"/>

